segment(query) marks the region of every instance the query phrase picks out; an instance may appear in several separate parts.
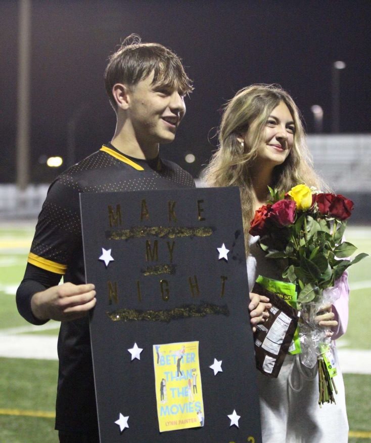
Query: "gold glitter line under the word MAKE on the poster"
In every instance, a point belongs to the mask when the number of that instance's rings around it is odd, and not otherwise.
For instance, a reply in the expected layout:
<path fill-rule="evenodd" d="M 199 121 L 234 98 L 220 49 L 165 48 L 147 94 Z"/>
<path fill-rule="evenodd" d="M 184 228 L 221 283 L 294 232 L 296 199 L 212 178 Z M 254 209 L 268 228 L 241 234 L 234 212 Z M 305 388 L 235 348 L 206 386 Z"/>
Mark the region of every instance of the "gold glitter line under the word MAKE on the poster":
<path fill-rule="evenodd" d="M 208 237 L 212 235 L 213 229 L 207 226 L 201 227 L 165 227 L 165 226 L 133 226 L 130 229 L 119 229 L 117 231 L 106 231 L 109 240 L 127 240 L 128 238 L 141 238 L 149 235 L 156 237 Z"/>

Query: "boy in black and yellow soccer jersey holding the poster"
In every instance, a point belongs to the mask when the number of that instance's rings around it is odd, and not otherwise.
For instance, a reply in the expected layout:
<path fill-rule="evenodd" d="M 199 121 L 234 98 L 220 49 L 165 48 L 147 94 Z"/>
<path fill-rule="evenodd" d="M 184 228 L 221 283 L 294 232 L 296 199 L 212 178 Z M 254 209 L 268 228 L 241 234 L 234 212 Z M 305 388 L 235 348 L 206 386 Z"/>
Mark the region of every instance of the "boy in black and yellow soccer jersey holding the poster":
<path fill-rule="evenodd" d="M 18 310 L 30 323 L 62 322 L 56 406 L 62 443 L 99 442 L 87 316 L 96 292 L 85 284 L 79 193 L 195 186 L 190 174 L 158 155 L 160 143 L 174 140 L 184 96 L 193 90 L 179 58 L 130 36 L 110 57 L 105 84 L 117 115 L 113 139 L 50 186 L 17 291 Z"/>

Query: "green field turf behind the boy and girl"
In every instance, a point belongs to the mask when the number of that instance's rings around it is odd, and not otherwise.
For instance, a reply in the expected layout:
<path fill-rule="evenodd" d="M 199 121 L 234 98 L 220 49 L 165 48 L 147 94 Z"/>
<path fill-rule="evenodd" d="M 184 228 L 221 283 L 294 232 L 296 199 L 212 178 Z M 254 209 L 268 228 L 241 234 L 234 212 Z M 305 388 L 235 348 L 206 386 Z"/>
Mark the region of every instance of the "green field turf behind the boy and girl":
<path fill-rule="evenodd" d="M 0 226 L 0 333 L 29 326 L 18 314 L 15 291 L 22 279 L 33 234 L 31 225 Z M 347 241 L 371 255 L 371 228 L 349 227 Z M 371 258 L 350 268 L 350 317 L 344 348 L 371 349 Z M 353 288 L 352 288 L 353 287 Z M 33 334 L 57 334 L 56 328 Z M 54 428 L 57 361 L 0 358 L 0 442 L 56 443 Z M 371 370 L 371 368 L 370 368 Z M 371 443 L 371 375 L 344 374 L 349 442 Z M 319 442 L 321 443 L 321 442 Z"/>

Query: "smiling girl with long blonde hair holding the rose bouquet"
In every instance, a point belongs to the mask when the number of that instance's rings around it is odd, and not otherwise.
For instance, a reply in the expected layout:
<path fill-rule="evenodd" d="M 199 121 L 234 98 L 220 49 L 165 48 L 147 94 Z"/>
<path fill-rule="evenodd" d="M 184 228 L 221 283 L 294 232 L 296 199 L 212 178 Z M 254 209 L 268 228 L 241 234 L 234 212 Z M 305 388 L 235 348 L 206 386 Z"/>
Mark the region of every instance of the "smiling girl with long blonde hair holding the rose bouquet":
<path fill-rule="evenodd" d="M 205 181 L 209 186 L 240 188 L 250 291 L 259 274 L 282 279 L 280 269 L 265 259 L 258 247 L 259 237 L 249 235 L 255 211 L 267 204 L 267 186 L 286 191 L 304 183 L 326 189 L 312 168 L 299 111 L 287 92 L 273 85 L 253 85 L 239 91 L 226 104 L 219 148 L 205 170 Z M 333 339 L 345 332 L 348 320 L 347 276 L 343 275 L 337 285 L 340 299 L 316 317 L 320 327 L 332 328 L 329 334 Z M 250 293 L 253 298 L 256 295 Z M 250 303 L 252 323 L 254 317 L 264 321 L 259 311 L 262 305 L 252 310 Z M 264 443 L 348 441 L 340 371 L 336 377 L 336 405 L 326 404 L 321 409 L 316 368 L 304 367 L 299 355 L 286 356 L 278 378 L 268 378 L 260 372 L 257 377 Z"/>

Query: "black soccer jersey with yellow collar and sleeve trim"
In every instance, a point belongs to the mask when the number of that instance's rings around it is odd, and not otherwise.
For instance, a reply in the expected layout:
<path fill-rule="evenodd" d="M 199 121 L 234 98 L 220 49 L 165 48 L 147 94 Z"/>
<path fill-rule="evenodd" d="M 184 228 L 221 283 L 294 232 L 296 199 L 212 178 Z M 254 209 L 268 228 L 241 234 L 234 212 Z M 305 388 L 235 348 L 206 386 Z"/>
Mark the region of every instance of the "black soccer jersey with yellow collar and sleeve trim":
<path fill-rule="evenodd" d="M 194 186 L 191 175 L 174 163 L 159 157 L 150 161 L 134 159 L 110 144 L 103 145 L 99 151 L 61 174 L 50 186 L 38 218 L 28 262 L 40 270 L 63 275 L 65 282 L 85 283 L 80 192 Z M 19 309 L 26 318 L 32 317 L 30 312 L 22 312 L 30 306 Z M 94 430 L 98 421 L 87 317 L 61 323 L 58 355 L 56 429 Z"/>

